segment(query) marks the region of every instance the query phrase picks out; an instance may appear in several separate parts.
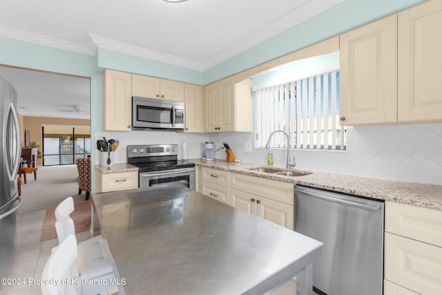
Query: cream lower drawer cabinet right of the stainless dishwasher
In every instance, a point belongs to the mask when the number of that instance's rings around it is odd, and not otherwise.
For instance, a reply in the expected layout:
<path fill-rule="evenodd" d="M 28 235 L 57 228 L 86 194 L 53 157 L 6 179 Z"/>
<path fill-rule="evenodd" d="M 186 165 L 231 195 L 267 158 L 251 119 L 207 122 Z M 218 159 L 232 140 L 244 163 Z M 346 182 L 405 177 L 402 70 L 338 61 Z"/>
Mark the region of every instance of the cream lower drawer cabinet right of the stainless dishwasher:
<path fill-rule="evenodd" d="M 386 202 L 384 255 L 385 295 L 441 294 L 442 211 Z"/>

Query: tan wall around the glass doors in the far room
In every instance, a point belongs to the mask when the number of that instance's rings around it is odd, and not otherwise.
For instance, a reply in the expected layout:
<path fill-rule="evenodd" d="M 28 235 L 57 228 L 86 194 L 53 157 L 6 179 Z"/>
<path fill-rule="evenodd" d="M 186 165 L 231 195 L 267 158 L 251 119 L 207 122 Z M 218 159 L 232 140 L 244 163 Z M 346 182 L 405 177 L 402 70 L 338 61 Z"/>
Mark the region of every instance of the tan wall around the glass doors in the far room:
<path fill-rule="evenodd" d="M 37 142 L 39 146 L 39 153 L 41 154 L 43 137 L 41 135 L 42 125 L 68 125 L 68 126 L 90 126 L 90 120 L 79 119 L 62 119 L 52 117 L 23 117 L 21 125 L 21 133 L 24 142 L 24 130 L 30 131 L 30 141 Z M 38 159 L 39 166 L 41 166 L 41 159 Z"/>

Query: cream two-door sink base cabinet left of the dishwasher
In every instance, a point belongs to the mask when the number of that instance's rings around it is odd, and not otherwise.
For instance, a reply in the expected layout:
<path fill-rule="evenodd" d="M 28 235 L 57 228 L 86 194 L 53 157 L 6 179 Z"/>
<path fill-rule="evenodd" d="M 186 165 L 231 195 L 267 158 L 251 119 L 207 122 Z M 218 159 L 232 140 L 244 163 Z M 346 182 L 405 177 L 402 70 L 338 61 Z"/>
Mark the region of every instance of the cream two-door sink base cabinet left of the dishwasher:
<path fill-rule="evenodd" d="M 294 184 L 230 173 L 229 204 L 294 229 Z"/>

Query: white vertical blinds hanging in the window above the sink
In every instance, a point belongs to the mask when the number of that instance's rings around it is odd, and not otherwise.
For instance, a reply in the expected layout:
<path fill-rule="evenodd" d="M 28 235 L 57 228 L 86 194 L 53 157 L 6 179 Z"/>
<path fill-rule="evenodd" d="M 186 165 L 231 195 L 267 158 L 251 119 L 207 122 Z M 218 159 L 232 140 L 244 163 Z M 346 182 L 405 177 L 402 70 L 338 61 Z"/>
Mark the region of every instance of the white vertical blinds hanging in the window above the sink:
<path fill-rule="evenodd" d="M 339 125 L 339 71 L 254 91 L 256 147 L 264 147 L 272 131 L 290 136 L 296 149 L 345 149 L 345 127 Z M 276 133 L 271 148 L 287 147 Z"/>

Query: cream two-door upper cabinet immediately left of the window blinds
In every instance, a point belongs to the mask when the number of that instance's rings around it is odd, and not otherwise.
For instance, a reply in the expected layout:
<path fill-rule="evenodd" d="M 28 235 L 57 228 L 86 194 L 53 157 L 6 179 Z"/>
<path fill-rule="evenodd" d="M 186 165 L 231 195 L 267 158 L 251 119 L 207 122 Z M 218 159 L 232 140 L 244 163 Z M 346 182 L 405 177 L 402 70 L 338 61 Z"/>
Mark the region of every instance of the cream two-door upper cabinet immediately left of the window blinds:
<path fill-rule="evenodd" d="M 204 132 L 250 132 L 251 81 L 235 77 L 204 87 Z"/>

